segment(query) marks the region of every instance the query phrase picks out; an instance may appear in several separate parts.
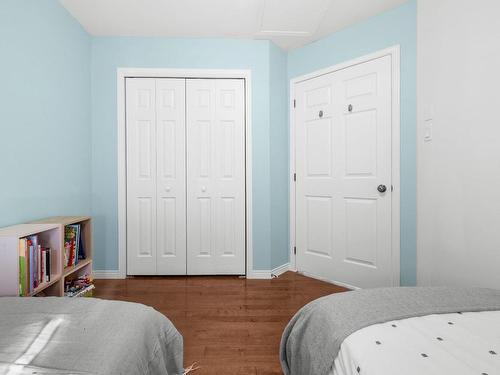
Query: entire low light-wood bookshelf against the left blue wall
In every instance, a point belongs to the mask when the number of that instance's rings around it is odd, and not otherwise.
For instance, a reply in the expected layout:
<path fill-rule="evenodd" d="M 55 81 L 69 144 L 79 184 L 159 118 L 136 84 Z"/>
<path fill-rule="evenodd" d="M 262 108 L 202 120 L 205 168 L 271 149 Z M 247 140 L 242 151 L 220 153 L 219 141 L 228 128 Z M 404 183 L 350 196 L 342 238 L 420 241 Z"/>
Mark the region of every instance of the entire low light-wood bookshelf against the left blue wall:
<path fill-rule="evenodd" d="M 64 229 L 80 224 L 85 259 L 64 267 Z M 88 216 L 57 216 L 26 224 L 0 228 L 0 296 L 19 295 L 19 240 L 38 235 L 43 246 L 51 248 L 49 282 L 38 285 L 27 296 L 64 296 L 65 281 L 92 275 L 92 219 Z"/>

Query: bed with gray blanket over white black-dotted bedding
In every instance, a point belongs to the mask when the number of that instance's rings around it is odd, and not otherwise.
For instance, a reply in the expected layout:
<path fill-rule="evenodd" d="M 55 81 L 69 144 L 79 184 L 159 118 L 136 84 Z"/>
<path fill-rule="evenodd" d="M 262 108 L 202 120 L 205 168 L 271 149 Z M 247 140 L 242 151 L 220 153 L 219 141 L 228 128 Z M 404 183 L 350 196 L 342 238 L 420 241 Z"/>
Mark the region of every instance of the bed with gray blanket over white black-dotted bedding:
<path fill-rule="evenodd" d="M 500 291 L 492 289 L 330 295 L 304 306 L 289 322 L 281 366 L 285 375 L 499 374 L 499 310 Z"/>

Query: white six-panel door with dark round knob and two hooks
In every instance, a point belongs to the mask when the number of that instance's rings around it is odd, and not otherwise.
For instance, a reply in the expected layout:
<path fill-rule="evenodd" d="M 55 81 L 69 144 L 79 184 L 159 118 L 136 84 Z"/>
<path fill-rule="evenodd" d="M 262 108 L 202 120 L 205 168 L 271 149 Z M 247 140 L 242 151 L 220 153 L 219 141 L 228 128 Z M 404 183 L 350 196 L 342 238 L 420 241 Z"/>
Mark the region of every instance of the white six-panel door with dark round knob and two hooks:
<path fill-rule="evenodd" d="M 298 271 L 393 285 L 391 87 L 390 56 L 295 86 Z"/>

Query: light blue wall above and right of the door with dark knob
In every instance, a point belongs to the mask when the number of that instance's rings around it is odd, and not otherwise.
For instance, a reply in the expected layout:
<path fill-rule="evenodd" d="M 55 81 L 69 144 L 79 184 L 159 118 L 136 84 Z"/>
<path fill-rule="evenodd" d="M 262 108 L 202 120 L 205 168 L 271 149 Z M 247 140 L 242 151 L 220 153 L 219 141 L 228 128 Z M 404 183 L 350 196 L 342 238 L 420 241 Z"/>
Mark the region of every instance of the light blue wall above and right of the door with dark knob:
<path fill-rule="evenodd" d="M 416 284 L 416 1 L 291 51 L 293 78 L 401 46 L 401 284 Z"/>

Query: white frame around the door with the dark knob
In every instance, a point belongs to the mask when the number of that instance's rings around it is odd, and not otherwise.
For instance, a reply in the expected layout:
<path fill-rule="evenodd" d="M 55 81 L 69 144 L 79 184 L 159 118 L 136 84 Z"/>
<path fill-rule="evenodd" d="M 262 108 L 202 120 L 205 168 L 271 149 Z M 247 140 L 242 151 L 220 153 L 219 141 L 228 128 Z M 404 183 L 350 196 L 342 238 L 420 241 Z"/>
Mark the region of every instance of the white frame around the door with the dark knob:
<path fill-rule="evenodd" d="M 294 252 L 295 243 L 295 85 L 299 82 L 316 78 L 324 74 L 362 64 L 384 56 L 391 56 L 392 76 L 392 217 L 391 217 L 391 247 L 392 247 L 392 284 L 400 285 L 400 47 L 389 47 L 369 55 L 349 60 L 325 69 L 317 70 L 290 80 L 290 267 L 297 271 L 297 255 Z M 341 284 L 336 280 L 326 280 Z"/>

